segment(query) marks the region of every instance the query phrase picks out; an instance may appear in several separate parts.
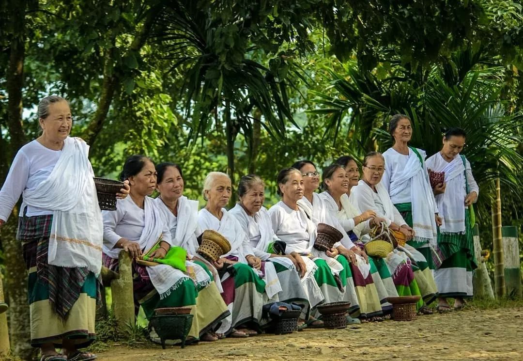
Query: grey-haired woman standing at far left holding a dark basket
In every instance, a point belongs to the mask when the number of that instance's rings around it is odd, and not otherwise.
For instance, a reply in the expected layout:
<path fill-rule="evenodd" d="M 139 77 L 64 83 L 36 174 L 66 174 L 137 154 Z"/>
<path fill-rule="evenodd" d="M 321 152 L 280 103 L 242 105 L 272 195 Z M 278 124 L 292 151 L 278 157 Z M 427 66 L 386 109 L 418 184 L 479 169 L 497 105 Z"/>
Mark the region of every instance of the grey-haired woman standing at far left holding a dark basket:
<path fill-rule="evenodd" d="M 77 349 L 94 340 L 103 239 L 89 146 L 69 137 L 64 98 L 40 100 L 38 116 L 42 135 L 18 151 L 0 191 L 0 226 L 22 195 L 17 238 L 29 272 L 31 345 L 41 360 L 93 360 Z"/>

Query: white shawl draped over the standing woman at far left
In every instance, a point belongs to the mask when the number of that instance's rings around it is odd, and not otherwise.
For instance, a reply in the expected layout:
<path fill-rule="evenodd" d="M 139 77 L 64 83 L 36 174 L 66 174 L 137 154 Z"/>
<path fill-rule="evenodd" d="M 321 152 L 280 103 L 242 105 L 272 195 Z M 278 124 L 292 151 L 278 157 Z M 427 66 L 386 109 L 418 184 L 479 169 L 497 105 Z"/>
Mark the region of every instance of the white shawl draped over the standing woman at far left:
<path fill-rule="evenodd" d="M 66 138 L 49 177 L 35 189 L 25 190 L 23 197 L 29 206 L 53 211 L 49 264 L 86 267 L 98 275 L 104 223 L 88 152 L 82 139 Z"/>

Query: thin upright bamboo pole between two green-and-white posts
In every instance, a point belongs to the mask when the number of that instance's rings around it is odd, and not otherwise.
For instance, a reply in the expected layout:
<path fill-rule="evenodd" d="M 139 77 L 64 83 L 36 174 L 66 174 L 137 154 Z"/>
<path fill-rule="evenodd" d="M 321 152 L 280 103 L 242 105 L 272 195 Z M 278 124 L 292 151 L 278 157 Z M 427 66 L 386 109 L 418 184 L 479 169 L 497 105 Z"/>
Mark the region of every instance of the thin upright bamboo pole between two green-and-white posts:
<path fill-rule="evenodd" d="M 505 289 L 505 269 L 503 266 L 503 244 L 501 235 L 501 187 L 499 178 L 494 181 L 496 197 L 492 202 L 492 245 L 494 249 L 494 287 L 496 297 L 502 298 L 506 295 Z"/>

